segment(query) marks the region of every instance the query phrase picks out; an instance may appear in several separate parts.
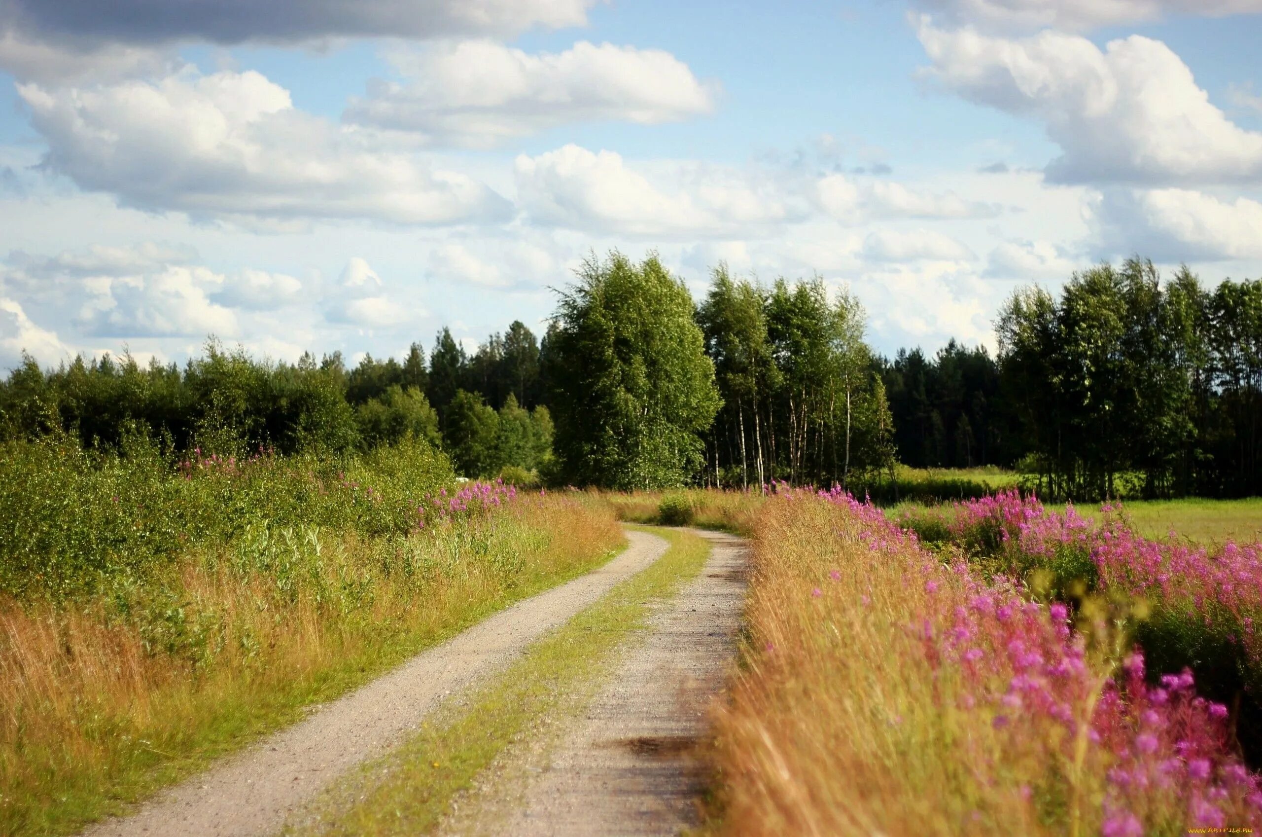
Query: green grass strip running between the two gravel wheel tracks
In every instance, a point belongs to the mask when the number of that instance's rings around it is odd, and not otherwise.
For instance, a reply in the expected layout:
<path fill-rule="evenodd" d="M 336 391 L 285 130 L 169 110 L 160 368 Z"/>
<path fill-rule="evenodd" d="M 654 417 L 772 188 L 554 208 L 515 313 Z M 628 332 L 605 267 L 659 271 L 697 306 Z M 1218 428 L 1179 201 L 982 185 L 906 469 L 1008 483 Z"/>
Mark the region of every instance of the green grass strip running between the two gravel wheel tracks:
<path fill-rule="evenodd" d="M 492 682 L 442 709 L 409 742 L 342 780 L 313 819 L 288 834 L 418 834 L 433 832 L 452 799 L 541 718 L 581 712 L 634 641 L 655 602 L 700 573 L 711 545 L 687 531 L 642 529 L 670 542 L 651 567 L 621 582 Z"/>

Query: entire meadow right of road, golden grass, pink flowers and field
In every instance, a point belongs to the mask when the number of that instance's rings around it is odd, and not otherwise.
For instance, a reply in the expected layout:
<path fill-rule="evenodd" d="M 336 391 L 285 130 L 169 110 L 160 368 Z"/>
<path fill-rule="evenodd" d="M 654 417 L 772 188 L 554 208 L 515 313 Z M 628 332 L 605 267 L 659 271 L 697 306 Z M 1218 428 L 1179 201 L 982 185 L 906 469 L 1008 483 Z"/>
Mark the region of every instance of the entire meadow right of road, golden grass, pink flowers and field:
<path fill-rule="evenodd" d="M 712 833 L 1262 826 L 1259 500 L 606 501 L 755 544 Z"/>

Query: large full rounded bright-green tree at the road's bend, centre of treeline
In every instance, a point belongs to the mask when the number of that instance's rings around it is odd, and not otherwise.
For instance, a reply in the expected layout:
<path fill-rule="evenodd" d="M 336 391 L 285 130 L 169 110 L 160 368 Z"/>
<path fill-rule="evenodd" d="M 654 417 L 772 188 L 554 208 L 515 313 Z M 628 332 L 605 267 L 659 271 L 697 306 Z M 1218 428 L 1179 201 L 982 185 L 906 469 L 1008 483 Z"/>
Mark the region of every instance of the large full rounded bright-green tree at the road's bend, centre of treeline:
<path fill-rule="evenodd" d="M 564 478 L 647 489 L 693 477 L 722 401 L 684 284 L 656 256 L 592 259 L 557 326 L 548 380 Z"/>

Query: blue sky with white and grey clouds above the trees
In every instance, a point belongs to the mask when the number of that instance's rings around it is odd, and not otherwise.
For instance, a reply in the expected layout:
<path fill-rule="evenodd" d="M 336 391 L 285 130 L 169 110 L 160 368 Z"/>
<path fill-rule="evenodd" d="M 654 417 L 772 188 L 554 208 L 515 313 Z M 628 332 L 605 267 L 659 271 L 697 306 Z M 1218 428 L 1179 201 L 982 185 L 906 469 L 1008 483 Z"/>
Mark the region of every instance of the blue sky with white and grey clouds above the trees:
<path fill-rule="evenodd" d="M 583 260 L 993 350 L 1132 255 L 1262 278 L 1262 0 L 0 0 L 0 369 L 546 327 Z"/>

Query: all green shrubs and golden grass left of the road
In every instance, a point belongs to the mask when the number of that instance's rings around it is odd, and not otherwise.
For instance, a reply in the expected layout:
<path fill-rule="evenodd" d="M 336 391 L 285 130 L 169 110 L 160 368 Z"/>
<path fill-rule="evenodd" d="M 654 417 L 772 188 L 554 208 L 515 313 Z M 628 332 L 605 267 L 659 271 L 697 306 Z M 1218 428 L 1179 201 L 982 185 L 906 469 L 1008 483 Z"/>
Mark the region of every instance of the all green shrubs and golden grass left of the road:
<path fill-rule="evenodd" d="M 0 833 L 67 833 L 623 542 L 579 495 L 457 484 L 420 441 L 0 456 Z"/>

